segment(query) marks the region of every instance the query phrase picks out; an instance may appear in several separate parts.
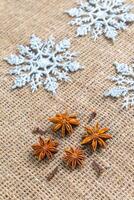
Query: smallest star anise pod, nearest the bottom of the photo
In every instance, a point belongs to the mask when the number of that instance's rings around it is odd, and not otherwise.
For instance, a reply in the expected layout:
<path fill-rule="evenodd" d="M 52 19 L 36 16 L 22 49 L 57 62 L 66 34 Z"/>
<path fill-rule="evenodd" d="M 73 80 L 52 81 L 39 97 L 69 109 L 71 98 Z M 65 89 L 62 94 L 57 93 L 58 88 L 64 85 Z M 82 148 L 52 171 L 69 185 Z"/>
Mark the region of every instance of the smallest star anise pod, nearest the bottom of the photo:
<path fill-rule="evenodd" d="M 82 166 L 83 161 L 85 160 L 84 151 L 79 147 L 77 148 L 70 147 L 69 149 L 65 150 L 65 155 L 63 156 L 63 160 L 72 169 L 76 168 L 77 166 Z"/>

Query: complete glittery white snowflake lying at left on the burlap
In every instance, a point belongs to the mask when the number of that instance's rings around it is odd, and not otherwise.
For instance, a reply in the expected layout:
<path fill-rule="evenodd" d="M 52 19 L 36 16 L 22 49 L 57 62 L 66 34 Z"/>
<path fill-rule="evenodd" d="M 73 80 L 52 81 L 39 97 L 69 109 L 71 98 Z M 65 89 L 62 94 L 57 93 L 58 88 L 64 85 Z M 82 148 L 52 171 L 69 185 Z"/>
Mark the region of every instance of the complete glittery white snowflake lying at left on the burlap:
<path fill-rule="evenodd" d="M 43 85 L 47 91 L 56 93 L 58 81 L 69 80 L 68 73 L 82 67 L 75 61 L 76 53 L 70 52 L 70 41 L 63 39 L 58 44 L 49 37 L 43 41 L 35 35 L 29 46 L 20 45 L 18 55 L 10 55 L 5 60 L 15 66 L 11 75 L 16 76 L 12 89 L 30 84 L 32 92 Z"/>

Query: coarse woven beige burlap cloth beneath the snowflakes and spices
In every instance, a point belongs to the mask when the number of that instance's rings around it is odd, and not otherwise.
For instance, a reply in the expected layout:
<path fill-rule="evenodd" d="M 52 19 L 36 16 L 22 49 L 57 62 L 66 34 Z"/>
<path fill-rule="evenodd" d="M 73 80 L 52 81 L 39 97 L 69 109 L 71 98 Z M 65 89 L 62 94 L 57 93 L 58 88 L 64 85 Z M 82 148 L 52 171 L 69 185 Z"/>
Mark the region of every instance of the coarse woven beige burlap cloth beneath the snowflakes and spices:
<path fill-rule="evenodd" d="M 96 42 L 88 36 L 75 38 L 76 27 L 67 24 L 70 18 L 64 14 L 75 5 L 74 0 L 0 0 L 0 200 L 134 199 L 134 108 L 124 110 L 121 99 L 103 97 L 113 86 L 107 80 L 115 74 L 113 62 L 129 64 L 134 58 L 134 24 L 114 44 L 103 37 Z M 18 44 L 28 44 L 32 33 L 42 39 L 71 38 L 72 50 L 79 52 L 78 61 L 85 67 L 71 75 L 72 82 L 60 83 L 56 96 L 43 88 L 34 94 L 29 87 L 11 91 L 14 77 L 7 75 L 11 67 L 3 58 L 16 53 Z M 39 162 L 31 148 L 39 135 L 32 130 L 47 130 L 48 117 L 65 109 L 78 113 L 81 126 L 70 137 L 55 135 L 58 153 L 51 161 Z M 61 161 L 63 150 L 79 145 L 92 109 L 97 111 L 92 124 L 109 127 L 113 139 L 102 151 L 86 150 L 84 167 L 71 171 Z M 105 169 L 99 178 L 93 160 Z M 57 174 L 48 182 L 46 176 L 57 165 Z"/>

